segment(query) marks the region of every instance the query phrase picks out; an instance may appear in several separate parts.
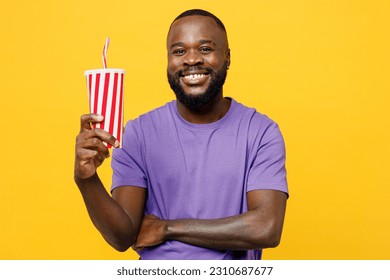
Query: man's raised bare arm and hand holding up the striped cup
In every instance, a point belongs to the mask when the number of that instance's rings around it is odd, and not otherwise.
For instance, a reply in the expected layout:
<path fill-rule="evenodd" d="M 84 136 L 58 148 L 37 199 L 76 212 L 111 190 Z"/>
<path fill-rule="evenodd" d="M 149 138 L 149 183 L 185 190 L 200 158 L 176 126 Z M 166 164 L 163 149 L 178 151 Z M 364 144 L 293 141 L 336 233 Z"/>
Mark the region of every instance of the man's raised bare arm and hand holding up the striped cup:
<path fill-rule="evenodd" d="M 97 115 L 83 115 L 76 139 L 74 180 L 83 196 L 88 214 L 104 239 L 118 251 L 127 250 L 136 240 L 145 203 L 146 191 L 137 187 L 117 188 L 111 197 L 96 171 L 109 157 L 103 142 L 118 147 L 116 139 L 101 129 L 91 129 L 91 122 L 101 122 Z"/>

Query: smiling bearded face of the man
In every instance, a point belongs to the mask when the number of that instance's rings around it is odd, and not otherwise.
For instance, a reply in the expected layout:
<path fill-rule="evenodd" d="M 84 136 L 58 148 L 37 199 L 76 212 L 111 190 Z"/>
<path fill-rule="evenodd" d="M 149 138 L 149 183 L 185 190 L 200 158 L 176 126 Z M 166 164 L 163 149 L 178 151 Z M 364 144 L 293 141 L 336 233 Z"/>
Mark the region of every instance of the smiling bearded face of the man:
<path fill-rule="evenodd" d="M 200 109 L 222 93 L 230 63 L 226 33 L 209 17 L 175 21 L 167 38 L 168 81 L 176 97 Z"/>

